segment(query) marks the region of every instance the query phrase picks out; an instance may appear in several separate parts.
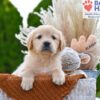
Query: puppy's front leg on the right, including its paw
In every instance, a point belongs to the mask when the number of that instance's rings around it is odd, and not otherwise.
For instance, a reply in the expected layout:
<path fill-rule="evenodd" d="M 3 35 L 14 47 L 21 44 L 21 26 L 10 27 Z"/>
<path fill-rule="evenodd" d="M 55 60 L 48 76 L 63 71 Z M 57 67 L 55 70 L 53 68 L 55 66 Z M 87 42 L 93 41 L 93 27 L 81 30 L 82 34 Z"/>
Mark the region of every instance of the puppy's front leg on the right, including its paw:
<path fill-rule="evenodd" d="M 63 70 L 56 69 L 52 73 L 53 82 L 57 85 L 63 85 L 65 83 L 65 73 Z"/>

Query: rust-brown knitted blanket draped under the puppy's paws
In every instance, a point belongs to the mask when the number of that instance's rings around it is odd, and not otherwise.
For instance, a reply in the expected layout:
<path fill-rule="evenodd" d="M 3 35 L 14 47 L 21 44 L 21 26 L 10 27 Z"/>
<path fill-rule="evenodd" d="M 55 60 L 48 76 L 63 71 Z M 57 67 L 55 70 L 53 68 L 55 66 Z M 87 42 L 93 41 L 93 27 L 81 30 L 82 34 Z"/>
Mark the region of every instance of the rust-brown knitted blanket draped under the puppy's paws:
<path fill-rule="evenodd" d="M 20 77 L 0 74 L 0 89 L 14 100 L 62 100 L 81 78 L 84 78 L 84 75 L 66 76 L 66 83 L 63 86 L 57 86 L 52 83 L 50 76 L 40 75 L 36 77 L 33 89 L 26 92 L 20 87 Z"/>

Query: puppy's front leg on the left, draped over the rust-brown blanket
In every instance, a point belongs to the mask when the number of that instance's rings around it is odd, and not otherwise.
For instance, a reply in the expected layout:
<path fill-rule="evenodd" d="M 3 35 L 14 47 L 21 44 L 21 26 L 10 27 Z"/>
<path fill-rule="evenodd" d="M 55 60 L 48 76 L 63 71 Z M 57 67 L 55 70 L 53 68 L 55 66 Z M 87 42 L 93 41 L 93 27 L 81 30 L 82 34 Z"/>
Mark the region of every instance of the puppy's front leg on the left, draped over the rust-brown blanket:
<path fill-rule="evenodd" d="M 23 90 L 28 91 L 32 89 L 34 83 L 34 75 L 32 72 L 23 72 L 22 73 L 22 82 L 21 87 Z"/>

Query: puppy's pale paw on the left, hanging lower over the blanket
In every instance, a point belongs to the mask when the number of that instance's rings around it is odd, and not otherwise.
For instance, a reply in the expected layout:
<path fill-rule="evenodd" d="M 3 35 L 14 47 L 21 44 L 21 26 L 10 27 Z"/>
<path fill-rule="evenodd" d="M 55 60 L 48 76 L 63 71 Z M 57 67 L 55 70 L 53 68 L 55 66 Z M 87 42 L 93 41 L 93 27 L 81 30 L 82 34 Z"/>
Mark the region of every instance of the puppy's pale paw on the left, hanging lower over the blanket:
<path fill-rule="evenodd" d="M 22 78 L 21 87 L 23 90 L 28 91 L 33 88 L 34 78 Z"/>

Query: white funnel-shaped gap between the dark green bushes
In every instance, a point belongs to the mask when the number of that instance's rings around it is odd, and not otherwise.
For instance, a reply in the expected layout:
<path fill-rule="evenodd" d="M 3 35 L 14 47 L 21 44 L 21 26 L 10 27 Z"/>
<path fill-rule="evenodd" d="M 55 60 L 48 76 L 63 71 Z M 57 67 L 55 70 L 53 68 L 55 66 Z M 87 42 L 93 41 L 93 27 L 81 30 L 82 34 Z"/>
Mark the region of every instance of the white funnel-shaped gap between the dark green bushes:
<path fill-rule="evenodd" d="M 23 17 L 24 27 L 27 27 L 28 14 L 33 11 L 40 1 L 41 0 L 10 0 Z"/>

